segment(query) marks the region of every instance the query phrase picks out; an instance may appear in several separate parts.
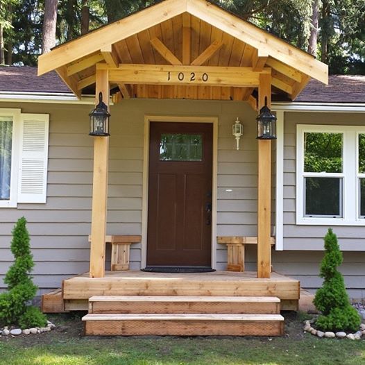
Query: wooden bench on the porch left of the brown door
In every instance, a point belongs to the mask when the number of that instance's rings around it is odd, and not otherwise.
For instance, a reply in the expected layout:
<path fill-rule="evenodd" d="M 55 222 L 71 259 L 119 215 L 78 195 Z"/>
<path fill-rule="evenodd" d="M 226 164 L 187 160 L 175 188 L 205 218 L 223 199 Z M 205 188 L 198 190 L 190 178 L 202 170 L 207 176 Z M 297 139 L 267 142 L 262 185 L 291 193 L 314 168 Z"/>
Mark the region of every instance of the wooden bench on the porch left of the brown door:
<path fill-rule="evenodd" d="M 105 244 L 112 245 L 112 257 L 110 269 L 112 271 L 129 270 L 129 251 L 130 245 L 140 242 L 141 236 L 130 235 L 106 235 Z M 89 236 L 89 242 L 91 236 Z"/>

